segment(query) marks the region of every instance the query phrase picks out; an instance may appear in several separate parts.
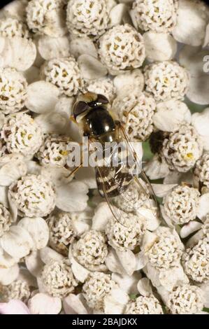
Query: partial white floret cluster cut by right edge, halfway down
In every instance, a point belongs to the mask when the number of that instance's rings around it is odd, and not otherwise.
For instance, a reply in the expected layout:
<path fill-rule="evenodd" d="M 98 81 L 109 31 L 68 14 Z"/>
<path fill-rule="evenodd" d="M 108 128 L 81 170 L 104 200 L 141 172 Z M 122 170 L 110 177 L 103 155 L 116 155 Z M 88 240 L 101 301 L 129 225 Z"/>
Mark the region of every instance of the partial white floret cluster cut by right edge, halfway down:
<path fill-rule="evenodd" d="M 203 156 L 196 162 L 194 169 L 194 181 L 198 185 L 206 186 L 209 188 L 209 154 L 205 153 Z"/>

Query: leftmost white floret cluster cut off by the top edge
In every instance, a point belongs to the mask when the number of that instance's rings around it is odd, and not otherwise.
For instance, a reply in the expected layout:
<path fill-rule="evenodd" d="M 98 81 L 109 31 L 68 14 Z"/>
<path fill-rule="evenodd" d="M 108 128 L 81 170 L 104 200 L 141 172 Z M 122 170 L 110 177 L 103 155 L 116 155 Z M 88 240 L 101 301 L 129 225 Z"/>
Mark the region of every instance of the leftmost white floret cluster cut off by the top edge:
<path fill-rule="evenodd" d="M 31 0 L 26 13 L 27 25 L 34 33 L 56 38 L 65 34 L 64 0 Z"/>

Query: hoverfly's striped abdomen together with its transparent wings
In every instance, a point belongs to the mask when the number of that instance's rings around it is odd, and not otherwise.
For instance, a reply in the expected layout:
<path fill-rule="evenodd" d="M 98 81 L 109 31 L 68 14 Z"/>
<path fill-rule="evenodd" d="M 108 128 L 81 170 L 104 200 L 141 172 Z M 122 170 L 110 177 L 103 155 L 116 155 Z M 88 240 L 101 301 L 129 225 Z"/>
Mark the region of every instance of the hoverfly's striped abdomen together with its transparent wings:
<path fill-rule="evenodd" d="M 108 157 L 103 159 L 103 166 L 96 167 L 96 181 L 113 216 L 125 225 L 126 214 L 140 214 L 141 209 L 146 208 L 158 216 L 159 211 L 152 186 L 141 168 L 142 160 L 136 155 L 121 125 L 117 129 L 117 150 L 112 148 Z M 118 148 L 121 142 L 124 145 L 122 151 Z M 115 158 L 118 158 L 117 165 L 113 163 Z"/>

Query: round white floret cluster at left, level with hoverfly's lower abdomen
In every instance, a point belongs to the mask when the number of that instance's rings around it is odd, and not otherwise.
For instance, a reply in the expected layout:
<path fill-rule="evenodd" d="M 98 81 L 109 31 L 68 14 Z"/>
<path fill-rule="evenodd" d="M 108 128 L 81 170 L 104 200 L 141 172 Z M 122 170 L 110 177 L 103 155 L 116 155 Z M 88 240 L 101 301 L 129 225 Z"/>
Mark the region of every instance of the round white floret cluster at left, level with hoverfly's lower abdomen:
<path fill-rule="evenodd" d="M 55 189 L 41 175 L 22 176 L 10 185 L 8 195 L 20 213 L 28 217 L 44 217 L 55 208 Z"/>

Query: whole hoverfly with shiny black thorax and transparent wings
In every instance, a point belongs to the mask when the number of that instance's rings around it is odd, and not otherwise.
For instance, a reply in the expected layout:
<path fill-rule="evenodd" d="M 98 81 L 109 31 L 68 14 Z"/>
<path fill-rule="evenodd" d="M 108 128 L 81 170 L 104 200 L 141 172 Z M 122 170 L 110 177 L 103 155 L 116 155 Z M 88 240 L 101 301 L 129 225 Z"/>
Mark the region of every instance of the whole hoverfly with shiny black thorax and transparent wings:
<path fill-rule="evenodd" d="M 134 167 L 131 167 L 127 161 L 124 161 L 123 153 L 119 151 L 117 152 L 117 157 L 119 157 L 117 166 L 111 165 L 110 160 L 115 157 L 113 148 L 108 159 L 103 159 L 103 165 L 95 167 L 99 194 L 106 198 L 117 221 L 123 221 L 122 210 L 124 208 L 128 209 L 128 212 L 136 212 L 136 193 L 143 194 L 145 204 L 149 204 L 150 209 L 154 209 L 154 213 L 157 214 L 157 201 L 152 186 L 141 168 L 141 161 L 138 160 L 122 124 L 115 120 L 108 111 L 108 103 L 105 96 L 87 92 L 80 95 L 73 106 L 73 118 L 81 126 L 83 136 L 88 137 L 89 144 L 93 141 L 99 141 L 103 146 L 103 151 L 106 151 L 105 145 L 107 143 L 115 142 L 117 145 L 122 141 L 126 146 L 128 155 L 132 155 L 135 160 Z M 125 160 L 127 160 L 127 154 Z M 122 204 L 124 206 L 120 207 Z"/>

